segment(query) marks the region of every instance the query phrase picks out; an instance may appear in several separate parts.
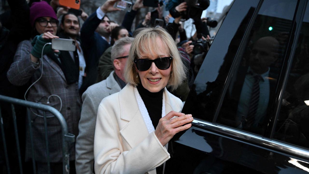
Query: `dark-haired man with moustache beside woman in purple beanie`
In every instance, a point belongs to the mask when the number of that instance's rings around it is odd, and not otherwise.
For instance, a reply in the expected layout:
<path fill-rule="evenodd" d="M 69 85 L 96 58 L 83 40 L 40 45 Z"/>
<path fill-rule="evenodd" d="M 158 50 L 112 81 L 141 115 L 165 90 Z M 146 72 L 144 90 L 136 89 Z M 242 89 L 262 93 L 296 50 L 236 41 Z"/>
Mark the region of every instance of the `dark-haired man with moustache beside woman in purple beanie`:
<path fill-rule="evenodd" d="M 83 84 L 83 80 L 86 77 L 87 72 L 85 72 L 86 68 L 86 62 L 83 54 L 83 50 L 81 49 L 80 46 L 80 40 L 79 40 L 79 29 L 80 29 L 80 24 L 78 17 L 74 15 L 73 13 L 67 13 L 62 16 L 61 19 L 61 29 L 58 34 L 60 38 L 65 38 L 65 39 L 73 39 L 75 40 L 75 45 L 76 45 L 76 50 L 75 51 L 61 51 L 61 54 L 59 55 L 60 57 L 65 57 L 70 59 L 64 59 L 72 66 L 76 65 L 79 66 L 79 72 L 76 72 L 79 74 L 78 76 L 78 89 L 80 94 L 83 94 L 83 92 L 87 89 L 89 86 L 85 86 Z"/>

